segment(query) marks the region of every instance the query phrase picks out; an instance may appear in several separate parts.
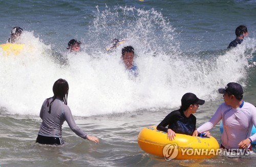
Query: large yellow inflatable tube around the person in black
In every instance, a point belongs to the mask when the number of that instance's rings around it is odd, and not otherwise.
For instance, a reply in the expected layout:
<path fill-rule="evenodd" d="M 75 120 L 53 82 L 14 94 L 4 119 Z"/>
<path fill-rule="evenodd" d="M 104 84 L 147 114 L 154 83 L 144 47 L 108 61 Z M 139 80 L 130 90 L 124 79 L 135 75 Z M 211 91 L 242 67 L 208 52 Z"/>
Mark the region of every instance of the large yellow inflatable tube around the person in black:
<path fill-rule="evenodd" d="M 212 136 L 196 137 L 176 133 L 175 140 L 169 141 L 167 133 L 157 130 L 156 126 L 145 127 L 140 131 L 138 145 L 148 154 L 165 158 L 172 156 L 172 159 L 211 158 L 218 155 L 219 149 L 219 143 Z M 173 146 L 177 147 L 174 148 Z M 173 155 L 170 155 L 170 151 L 173 151 Z M 175 151 L 177 155 L 174 155 Z"/>

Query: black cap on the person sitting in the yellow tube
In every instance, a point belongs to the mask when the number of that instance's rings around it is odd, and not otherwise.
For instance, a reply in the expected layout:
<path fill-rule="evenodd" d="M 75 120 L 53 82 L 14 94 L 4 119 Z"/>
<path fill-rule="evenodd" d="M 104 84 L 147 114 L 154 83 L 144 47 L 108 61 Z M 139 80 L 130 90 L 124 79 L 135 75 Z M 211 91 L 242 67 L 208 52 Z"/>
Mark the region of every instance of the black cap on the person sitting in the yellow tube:
<path fill-rule="evenodd" d="M 199 99 L 194 93 L 186 93 L 181 98 L 181 106 L 187 108 L 191 104 L 204 104 L 204 100 Z"/>

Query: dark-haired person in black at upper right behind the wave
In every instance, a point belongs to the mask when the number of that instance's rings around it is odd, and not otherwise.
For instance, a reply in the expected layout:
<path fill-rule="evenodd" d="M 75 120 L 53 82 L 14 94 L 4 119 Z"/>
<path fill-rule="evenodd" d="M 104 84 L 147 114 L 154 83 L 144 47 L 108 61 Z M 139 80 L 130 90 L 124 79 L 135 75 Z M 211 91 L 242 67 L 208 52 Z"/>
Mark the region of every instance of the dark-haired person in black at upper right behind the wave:
<path fill-rule="evenodd" d="M 245 25 L 239 25 L 237 27 L 235 33 L 236 33 L 237 38 L 235 40 L 233 40 L 232 42 L 230 42 L 230 44 L 228 45 L 227 48 L 236 47 L 238 44 L 241 44 L 243 42 L 245 37 L 247 37 L 249 35 L 249 33 L 247 31 L 247 27 Z"/>

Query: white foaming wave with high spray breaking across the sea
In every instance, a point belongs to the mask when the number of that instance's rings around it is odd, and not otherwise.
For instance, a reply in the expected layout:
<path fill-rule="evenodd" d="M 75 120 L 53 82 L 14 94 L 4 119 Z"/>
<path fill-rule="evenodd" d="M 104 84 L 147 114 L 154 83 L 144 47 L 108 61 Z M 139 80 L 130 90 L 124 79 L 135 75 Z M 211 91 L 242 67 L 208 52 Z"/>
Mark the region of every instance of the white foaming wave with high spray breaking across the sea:
<path fill-rule="evenodd" d="M 33 32 L 21 37 L 26 49 L 19 55 L 4 56 L 0 50 L 0 106 L 10 114 L 38 115 L 58 78 L 69 82 L 68 105 L 76 116 L 177 107 L 186 92 L 212 100 L 218 88 L 246 79 L 247 59 L 255 53 L 247 42 L 230 50 L 182 52 L 175 29 L 154 9 L 97 8 L 89 29 L 84 51 L 62 53 L 67 65 L 56 63 L 51 46 Z M 113 38 L 125 43 L 107 53 Z M 121 62 L 126 45 L 135 48 L 137 78 L 131 79 Z"/>

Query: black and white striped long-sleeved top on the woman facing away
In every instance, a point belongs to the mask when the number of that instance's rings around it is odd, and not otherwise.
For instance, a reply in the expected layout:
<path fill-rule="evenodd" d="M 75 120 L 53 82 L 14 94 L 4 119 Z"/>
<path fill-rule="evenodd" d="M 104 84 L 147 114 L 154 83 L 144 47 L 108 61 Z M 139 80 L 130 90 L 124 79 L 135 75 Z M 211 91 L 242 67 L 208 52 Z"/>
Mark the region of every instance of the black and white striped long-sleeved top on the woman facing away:
<path fill-rule="evenodd" d="M 53 98 L 49 99 L 49 103 Z M 50 107 L 50 105 L 49 105 Z M 86 139 L 87 133 L 84 133 L 75 123 L 71 110 L 68 105 L 56 98 L 51 106 L 51 114 L 47 107 L 47 99 L 42 103 L 40 118 L 42 119 L 41 127 L 38 134 L 50 137 L 61 137 L 61 127 L 64 121 L 67 121 L 71 130 L 78 136 Z"/>

